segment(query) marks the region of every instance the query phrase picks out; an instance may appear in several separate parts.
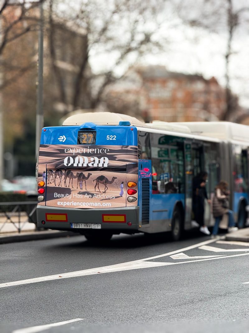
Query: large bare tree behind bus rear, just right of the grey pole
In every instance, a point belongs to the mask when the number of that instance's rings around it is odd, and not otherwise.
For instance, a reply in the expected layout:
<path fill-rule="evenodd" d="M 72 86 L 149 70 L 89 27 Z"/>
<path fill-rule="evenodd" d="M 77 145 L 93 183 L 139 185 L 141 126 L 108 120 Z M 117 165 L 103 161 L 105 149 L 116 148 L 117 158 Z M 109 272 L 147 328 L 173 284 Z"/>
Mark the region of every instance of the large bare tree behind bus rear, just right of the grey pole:
<path fill-rule="evenodd" d="M 49 47 L 52 67 L 60 91 L 64 113 L 77 108 L 96 109 L 106 88 L 120 79 L 129 65 L 149 52 L 158 52 L 162 44 L 155 38 L 163 20 L 158 13 L 166 0 L 80 0 L 59 6 L 49 1 Z M 63 23 L 77 34 L 74 60 L 73 93 L 68 99 L 63 84 L 60 55 L 55 50 L 55 27 Z M 163 40 L 163 38 L 161 38 Z M 68 41 L 66 38 L 64 43 Z M 163 40 L 164 42 L 164 40 Z M 67 51 L 68 52 L 68 51 Z M 102 66 L 97 66 L 102 62 Z M 90 66 L 91 67 L 90 67 Z"/>

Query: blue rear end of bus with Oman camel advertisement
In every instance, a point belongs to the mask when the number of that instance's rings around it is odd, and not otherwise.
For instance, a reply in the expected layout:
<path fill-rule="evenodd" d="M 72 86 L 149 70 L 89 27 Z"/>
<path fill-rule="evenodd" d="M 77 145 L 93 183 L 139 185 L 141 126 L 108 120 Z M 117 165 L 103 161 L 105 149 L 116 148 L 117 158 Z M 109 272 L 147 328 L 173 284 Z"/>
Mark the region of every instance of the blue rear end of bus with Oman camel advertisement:
<path fill-rule="evenodd" d="M 69 122 L 74 125 L 42 130 L 38 227 L 88 236 L 134 233 L 139 229 L 136 127 L 127 121 L 80 124 L 79 118 Z"/>

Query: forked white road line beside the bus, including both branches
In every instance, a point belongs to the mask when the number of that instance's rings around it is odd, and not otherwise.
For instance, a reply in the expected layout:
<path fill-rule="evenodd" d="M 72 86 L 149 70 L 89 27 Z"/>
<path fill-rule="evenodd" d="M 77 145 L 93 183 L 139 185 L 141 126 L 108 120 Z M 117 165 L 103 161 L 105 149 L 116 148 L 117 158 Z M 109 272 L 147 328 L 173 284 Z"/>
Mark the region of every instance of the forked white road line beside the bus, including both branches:
<path fill-rule="evenodd" d="M 234 254 L 234 255 L 228 255 L 228 256 L 226 256 L 226 255 L 215 256 L 213 258 L 206 258 L 206 259 L 199 259 L 199 260 L 188 260 L 188 261 L 182 261 L 182 262 L 146 261 L 146 260 L 152 260 L 154 258 L 165 257 L 165 256 L 179 253 L 182 251 L 187 251 L 187 250 L 196 248 L 200 245 L 205 246 L 205 244 L 209 244 L 211 242 L 214 242 L 214 240 L 210 239 L 210 240 L 198 243 L 198 244 L 187 246 L 182 249 L 171 251 L 171 252 L 168 252 L 165 254 L 160 254 L 160 255 L 157 255 L 154 257 L 124 262 L 124 263 L 110 265 L 110 266 L 90 268 L 90 269 L 84 269 L 84 270 L 80 270 L 80 271 L 67 272 L 67 273 L 61 273 L 61 274 L 55 274 L 55 275 L 41 276 L 41 277 L 36 277 L 36 278 L 32 278 L 32 279 L 27 279 L 27 280 L 5 282 L 5 283 L 0 284 L 0 288 L 18 286 L 18 285 L 22 285 L 22 284 L 30 284 L 30 283 L 36 283 L 36 282 L 42 282 L 42 281 L 60 280 L 60 279 L 66 279 L 66 278 L 70 278 L 70 277 L 103 274 L 103 273 L 110 273 L 110 272 L 120 272 L 120 271 L 124 271 L 124 270 L 132 270 L 132 269 L 140 269 L 140 268 L 178 265 L 178 264 L 190 263 L 190 262 L 195 262 L 195 261 L 205 261 L 205 260 L 214 260 L 214 259 L 222 259 L 222 258 L 237 257 L 237 256 L 242 256 L 242 255 L 249 255 L 249 253 L 242 253 L 242 254 Z M 216 249 L 216 247 L 215 247 L 215 249 Z"/>

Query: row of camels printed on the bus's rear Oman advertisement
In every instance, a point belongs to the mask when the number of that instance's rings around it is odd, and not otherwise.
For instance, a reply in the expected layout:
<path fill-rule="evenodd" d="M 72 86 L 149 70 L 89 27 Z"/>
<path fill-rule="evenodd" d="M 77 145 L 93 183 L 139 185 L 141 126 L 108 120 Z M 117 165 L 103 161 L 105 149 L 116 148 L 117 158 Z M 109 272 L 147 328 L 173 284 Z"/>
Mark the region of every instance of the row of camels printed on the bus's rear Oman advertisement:
<path fill-rule="evenodd" d="M 59 183 L 57 186 L 62 186 L 61 181 L 62 181 L 62 177 L 64 176 L 64 186 L 65 187 L 73 187 L 73 179 L 77 178 L 77 188 L 80 187 L 80 189 L 82 189 L 82 185 L 83 185 L 83 181 L 85 182 L 85 189 L 86 188 L 86 180 L 89 179 L 89 177 L 92 175 L 92 173 L 88 172 L 88 175 L 84 175 L 83 172 L 77 172 L 76 174 L 74 174 L 71 170 L 67 170 L 64 169 L 64 171 L 62 169 L 56 169 L 55 171 L 53 171 L 52 169 L 49 169 L 47 171 L 47 181 L 48 184 L 54 183 L 54 186 L 56 186 L 56 178 L 58 177 Z M 68 181 L 68 185 L 67 185 L 67 179 Z M 105 186 L 104 189 L 104 193 L 106 193 L 106 191 L 108 190 L 107 184 L 112 184 L 114 182 L 114 180 L 117 179 L 117 177 L 112 177 L 111 180 L 109 180 L 107 177 L 105 177 L 104 175 L 98 176 L 96 179 L 93 179 L 93 181 L 95 181 L 95 187 L 94 187 L 94 191 L 96 191 L 96 187 L 98 187 L 99 192 L 101 192 L 100 188 L 99 188 L 99 184 L 103 184 Z M 71 182 L 71 186 L 70 185 Z"/>

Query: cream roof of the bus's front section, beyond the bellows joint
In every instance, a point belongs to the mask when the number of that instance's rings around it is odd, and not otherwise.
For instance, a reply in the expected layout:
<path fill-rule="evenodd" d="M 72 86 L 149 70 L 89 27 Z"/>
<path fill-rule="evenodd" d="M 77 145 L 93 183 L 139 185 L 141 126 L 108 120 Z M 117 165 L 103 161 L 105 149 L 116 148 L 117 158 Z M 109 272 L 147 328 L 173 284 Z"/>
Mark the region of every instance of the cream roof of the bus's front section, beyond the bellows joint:
<path fill-rule="evenodd" d="M 173 123 L 172 123 L 173 124 Z M 187 126 L 192 134 L 213 137 L 220 140 L 249 141 L 247 125 L 230 122 L 184 122 L 174 123 Z"/>

